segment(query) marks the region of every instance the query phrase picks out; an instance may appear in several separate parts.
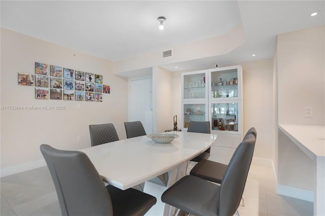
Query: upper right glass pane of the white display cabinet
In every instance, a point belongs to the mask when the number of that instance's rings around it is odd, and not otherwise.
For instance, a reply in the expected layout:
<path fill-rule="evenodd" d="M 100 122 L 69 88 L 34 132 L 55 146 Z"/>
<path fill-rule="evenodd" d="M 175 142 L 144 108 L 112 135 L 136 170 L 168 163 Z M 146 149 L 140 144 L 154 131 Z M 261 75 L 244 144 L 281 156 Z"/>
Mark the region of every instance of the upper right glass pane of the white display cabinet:
<path fill-rule="evenodd" d="M 238 97 L 237 68 L 211 72 L 211 97 Z"/>

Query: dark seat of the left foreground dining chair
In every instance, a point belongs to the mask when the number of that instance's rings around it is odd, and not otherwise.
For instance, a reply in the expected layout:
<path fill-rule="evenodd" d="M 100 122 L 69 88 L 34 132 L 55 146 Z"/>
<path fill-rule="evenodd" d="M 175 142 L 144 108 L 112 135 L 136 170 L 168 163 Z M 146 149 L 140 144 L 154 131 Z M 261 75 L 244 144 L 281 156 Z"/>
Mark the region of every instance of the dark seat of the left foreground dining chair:
<path fill-rule="evenodd" d="M 156 198 L 130 188 L 125 191 L 108 185 L 114 215 L 144 215 L 156 202 Z"/>

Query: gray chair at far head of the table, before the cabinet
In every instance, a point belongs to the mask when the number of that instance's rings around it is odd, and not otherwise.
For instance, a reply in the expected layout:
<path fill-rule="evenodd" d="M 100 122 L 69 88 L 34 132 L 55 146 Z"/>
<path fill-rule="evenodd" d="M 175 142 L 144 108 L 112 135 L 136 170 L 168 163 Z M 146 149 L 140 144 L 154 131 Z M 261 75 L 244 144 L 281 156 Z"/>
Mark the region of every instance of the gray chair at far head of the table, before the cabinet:
<path fill-rule="evenodd" d="M 211 133 L 210 130 L 210 122 L 198 122 L 198 121 L 190 121 L 188 124 L 187 132 L 194 132 L 194 133 Z M 210 150 L 211 148 L 208 148 L 206 151 L 201 153 L 200 155 L 196 156 L 195 158 L 192 158 L 189 160 L 189 162 L 199 162 L 201 160 L 207 160 L 210 157 Z M 187 167 L 189 165 L 189 162 L 186 164 L 185 174 L 187 172 Z"/>

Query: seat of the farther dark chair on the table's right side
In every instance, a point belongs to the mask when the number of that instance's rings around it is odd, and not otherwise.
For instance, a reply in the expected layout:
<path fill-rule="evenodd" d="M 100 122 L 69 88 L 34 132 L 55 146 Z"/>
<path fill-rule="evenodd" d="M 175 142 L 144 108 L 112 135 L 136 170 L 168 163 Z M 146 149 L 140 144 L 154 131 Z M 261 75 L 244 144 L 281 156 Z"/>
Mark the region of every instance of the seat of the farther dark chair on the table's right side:
<path fill-rule="evenodd" d="M 190 171 L 190 175 L 195 175 L 207 181 L 221 184 L 223 174 L 228 165 L 209 161 L 201 160 Z"/>

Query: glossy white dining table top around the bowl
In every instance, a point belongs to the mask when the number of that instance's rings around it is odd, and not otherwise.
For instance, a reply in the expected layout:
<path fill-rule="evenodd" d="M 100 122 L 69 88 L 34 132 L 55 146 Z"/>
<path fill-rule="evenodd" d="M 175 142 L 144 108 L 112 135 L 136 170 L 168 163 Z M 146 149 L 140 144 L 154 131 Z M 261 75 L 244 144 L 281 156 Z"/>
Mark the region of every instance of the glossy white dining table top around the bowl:
<path fill-rule="evenodd" d="M 217 138 L 216 134 L 186 131 L 167 133 L 178 134 L 179 137 L 163 144 L 147 136 L 139 136 L 80 151 L 86 153 L 109 184 L 125 190 L 196 157 Z"/>

